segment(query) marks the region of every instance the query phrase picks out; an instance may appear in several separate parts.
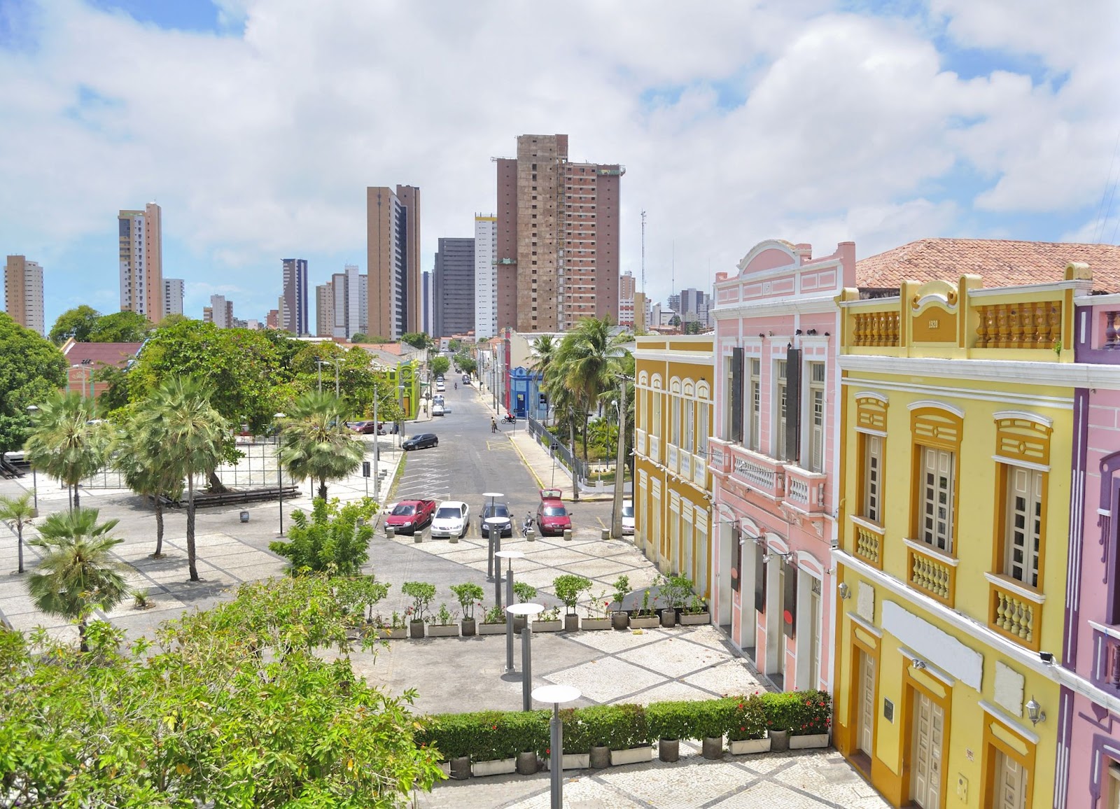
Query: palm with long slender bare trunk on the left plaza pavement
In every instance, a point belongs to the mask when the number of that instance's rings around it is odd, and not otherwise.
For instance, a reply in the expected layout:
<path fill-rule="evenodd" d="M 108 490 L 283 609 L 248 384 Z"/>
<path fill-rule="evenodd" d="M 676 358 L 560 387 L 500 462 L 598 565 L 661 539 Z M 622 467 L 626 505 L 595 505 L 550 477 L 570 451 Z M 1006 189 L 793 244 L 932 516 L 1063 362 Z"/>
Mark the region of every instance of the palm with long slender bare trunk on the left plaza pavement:
<path fill-rule="evenodd" d="M 187 567 L 198 580 L 195 559 L 195 475 L 209 475 L 225 452 L 230 422 L 194 379 L 164 380 L 137 410 L 138 457 L 159 459 L 168 480 L 187 480 Z"/>

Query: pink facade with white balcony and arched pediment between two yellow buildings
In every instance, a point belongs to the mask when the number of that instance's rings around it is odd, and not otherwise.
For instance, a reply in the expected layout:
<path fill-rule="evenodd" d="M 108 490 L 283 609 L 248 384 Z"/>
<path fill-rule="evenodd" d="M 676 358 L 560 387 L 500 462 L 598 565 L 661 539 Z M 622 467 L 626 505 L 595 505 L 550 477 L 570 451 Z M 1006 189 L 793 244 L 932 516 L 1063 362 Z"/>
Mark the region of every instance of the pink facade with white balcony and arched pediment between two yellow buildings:
<path fill-rule="evenodd" d="M 765 241 L 718 273 L 712 597 L 716 621 L 784 690 L 832 682 L 841 400 L 839 309 L 856 247 L 814 259 Z"/>

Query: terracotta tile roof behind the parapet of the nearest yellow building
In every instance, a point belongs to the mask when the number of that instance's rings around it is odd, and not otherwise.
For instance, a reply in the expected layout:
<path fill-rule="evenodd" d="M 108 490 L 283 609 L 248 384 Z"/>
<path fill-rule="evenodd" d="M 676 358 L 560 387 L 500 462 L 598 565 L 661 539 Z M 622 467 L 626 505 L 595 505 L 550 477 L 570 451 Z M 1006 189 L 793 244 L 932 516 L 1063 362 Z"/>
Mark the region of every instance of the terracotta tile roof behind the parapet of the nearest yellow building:
<path fill-rule="evenodd" d="M 1120 245 L 1019 242 L 1005 239 L 920 239 L 856 262 L 861 289 L 897 288 L 903 281 L 983 278 L 986 287 L 1061 281 L 1071 261 L 1089 264 L 1093 289 L 1120 292 Z"/>

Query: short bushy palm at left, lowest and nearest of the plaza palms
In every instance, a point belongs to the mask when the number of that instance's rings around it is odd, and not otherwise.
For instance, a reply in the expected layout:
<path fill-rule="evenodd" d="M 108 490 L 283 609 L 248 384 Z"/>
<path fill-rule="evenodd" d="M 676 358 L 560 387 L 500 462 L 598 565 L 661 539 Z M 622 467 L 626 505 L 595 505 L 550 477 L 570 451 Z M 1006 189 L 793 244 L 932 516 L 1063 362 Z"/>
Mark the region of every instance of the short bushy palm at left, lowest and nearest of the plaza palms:
<path fill-rule="evenodd" d="M 77 621 L 83 652 L 90 651 L 85 629 L 93 610 L 112 610 L 128 593 L 129 566 L 111 554 L 124 541 L 109 536 L 115 526 L 116 520 L 99 524 L 96 509 L 74 509 L 48 517 L 38 539 L 28 541 L 45 554 L 27 580 L 27 592 L 48 615 Z"/>

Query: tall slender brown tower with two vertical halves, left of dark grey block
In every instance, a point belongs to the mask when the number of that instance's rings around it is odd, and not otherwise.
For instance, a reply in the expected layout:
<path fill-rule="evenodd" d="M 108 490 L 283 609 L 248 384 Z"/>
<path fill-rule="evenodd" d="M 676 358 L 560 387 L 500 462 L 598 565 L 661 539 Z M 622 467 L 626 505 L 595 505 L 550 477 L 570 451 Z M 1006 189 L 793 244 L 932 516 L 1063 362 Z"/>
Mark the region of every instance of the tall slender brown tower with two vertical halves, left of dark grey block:
<path fill-rule="evenodd" d="M 398 340 L 419 332 L 421 313 L 420 189 L 365 189 L 368 333 Z"/>

